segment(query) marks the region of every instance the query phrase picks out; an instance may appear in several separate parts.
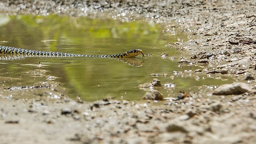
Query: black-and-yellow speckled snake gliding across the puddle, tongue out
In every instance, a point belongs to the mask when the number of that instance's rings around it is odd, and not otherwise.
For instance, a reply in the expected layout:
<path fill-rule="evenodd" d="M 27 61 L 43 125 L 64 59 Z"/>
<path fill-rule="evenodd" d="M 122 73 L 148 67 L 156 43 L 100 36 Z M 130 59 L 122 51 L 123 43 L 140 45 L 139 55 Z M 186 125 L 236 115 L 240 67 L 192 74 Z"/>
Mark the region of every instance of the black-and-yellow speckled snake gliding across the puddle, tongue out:
<path fill-rule="evenodd" d="M 87 54 L 71 54 L 62 52 L 51 52 L 51 51 L 35 51 L 22 49 L 17 47 L 0 46 L 0 54 L 18 54 L 18 55 L 34 55 L 42 57 L 103 57 L 103 58 L 131 58 L 139 54 L 144 54 L 141 49 L 134 49 L 123 52 L 121 54 L 111 54 L 111 55 L 87 55 Z"/>

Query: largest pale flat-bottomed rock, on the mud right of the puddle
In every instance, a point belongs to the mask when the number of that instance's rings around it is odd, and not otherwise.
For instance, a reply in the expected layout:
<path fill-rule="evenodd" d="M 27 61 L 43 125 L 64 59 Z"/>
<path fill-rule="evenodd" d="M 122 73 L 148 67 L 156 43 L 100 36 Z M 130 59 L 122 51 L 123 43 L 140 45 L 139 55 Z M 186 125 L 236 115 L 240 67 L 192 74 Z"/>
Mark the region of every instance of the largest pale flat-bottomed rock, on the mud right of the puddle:
<path fill-rule="evenodd" d="M 255 92 L 252 87 L 247 83 L 231 83 L 220 85 L 213 91 L 214 95 L 230 95 L 230 94 L 242 94 L 246 92 Z"/>

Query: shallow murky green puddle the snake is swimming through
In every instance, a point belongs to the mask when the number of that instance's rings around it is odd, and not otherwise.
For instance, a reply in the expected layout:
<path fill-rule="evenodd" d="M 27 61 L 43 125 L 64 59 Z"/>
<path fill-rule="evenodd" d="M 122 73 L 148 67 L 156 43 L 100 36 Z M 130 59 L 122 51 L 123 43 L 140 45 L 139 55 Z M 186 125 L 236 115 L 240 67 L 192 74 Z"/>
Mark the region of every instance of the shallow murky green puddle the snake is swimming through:
<path fill-rule="evenodd" d="M 178 91 L 204 84 L 225 83 L 220 79 L 189 77 L 198 66 L 178 67 L 182 51 L 165 47 L 178 39 L 187 40 L 188 33 L 177 28 L 170 31 L 164 25 L 146 21 L 120 22 L 109 19 L 47 17 L 18 15 L 0 17 L 0 45 L 40 51 L 58 51 L 76 54 L 118 54 L 130 49 L 142 49 L 151 54 L 137 58 L 115 60 L 92 57 L 27 57 L 18 60 L 0 60 L 0 79 L 3 87 L 30 86 L 45 81 L 45 76 L 30 76 L 29 70 L 37 67 L 26 64 L 46 64 L 40 69 L 46 75 L 58 77 L 56 82 L 67 88 L 71 98 L 80 96 L 86 101 L 115 97 L 116 99 L 141 100 L 145 94 L 137 86 L 153 80 L 152 73 L 167 73 L 158 79 L 162 84 L 175 83 L 175 87 L 158 88 L 167 96 Z M 169 54 L 160 57 L 161 52 Z M 174 61 L 168 59 L 175 56 Z M 25 64 L 25 65 L 24 65 Z M 191 70 L 191 71 L 189 71 Z M 188 77 L 176 77 L 174 71 L 185 71 Z M 186 72 L 187 71 L 187 72 Z M 170 76 L 174 75 L 172 79 Z M 6 78 L 6 77 L 9 77 Z M 228 82 L 227 82 L 228 83 Z"/>

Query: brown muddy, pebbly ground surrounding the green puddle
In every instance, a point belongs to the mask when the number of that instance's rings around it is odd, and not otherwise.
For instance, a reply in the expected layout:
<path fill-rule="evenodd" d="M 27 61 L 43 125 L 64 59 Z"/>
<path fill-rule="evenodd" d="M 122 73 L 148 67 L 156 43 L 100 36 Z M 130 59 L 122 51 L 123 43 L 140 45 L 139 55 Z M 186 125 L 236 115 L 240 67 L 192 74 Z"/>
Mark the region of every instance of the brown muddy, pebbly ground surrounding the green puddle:
<path fill-rule="evenodd" d="M 220 95 L 217 100 L 185 97 L 158 102 L 14 100 L 1 90 L 0 143 L 255 143 L 255 7 L 255 0 L 2 0 L 0 11 L 9 15 L 175 21 L 196 36 L 167 44 L 184 50 L 182 63 L 207 63 L 194 73 L 233 77 L 242 84 L 228 93 L 212 88 Z M 208 93 L 200 91 L 204 92 Z"/>

